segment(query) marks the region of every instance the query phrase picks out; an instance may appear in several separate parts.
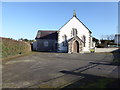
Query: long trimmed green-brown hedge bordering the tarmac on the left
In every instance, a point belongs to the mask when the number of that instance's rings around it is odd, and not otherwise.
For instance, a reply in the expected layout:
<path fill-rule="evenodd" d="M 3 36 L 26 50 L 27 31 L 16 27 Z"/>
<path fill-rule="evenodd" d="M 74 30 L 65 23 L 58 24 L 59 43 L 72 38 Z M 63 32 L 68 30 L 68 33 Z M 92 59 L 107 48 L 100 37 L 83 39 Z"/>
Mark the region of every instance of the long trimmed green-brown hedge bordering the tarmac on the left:
<path fill-rule="evenodd" d="M 2 58 L 31 51 L 31 45 L 27 42 L 17 41 L 3 37 L 0 37 L 0 39 L 0 47 L 2 47 Z"/>

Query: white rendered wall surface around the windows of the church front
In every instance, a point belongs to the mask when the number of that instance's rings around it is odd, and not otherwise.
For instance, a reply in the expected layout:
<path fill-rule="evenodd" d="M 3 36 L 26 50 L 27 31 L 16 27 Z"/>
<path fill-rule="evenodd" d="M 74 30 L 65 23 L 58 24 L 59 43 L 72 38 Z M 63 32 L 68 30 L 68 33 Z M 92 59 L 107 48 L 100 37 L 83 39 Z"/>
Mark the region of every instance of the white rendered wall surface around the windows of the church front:
<path fill-rule="evenodd" d="M 86 36 L 86 47 L 83 48 L 83 51 L 88 52 L 89 51 L 89 37 L 90 37 L 90 32 L 89 30 L 76 18 L 73 17 L 66 25 L 64 25 L 60 30 L 58 34 L 58 47 L 59 50 L 64 51 L 65 47 L 63 47 L 62 42 L 63 38 L 62 36 L 65 34 L 67 36 L 67 40 L 72 38 L 71 36 L 71 31 L 72 28 L 76 28 L 78 31 L 77 36 L 82 39 L 82 36 Z"/>

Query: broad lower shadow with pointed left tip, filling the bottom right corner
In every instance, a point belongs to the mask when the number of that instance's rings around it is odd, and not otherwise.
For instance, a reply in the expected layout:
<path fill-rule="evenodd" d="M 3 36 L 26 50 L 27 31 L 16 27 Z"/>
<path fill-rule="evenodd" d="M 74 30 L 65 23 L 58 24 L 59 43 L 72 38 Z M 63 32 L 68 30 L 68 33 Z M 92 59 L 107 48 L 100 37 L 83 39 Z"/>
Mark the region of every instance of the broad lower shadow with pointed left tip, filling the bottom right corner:
<path fill-rule="evenodd" d="M 82 79 L 74 82 L 62 89 L 65 88 L 119 88 L 119 79 L 106 78 L 95 75 L 83 74 L 80 72 L 73 71 L 60 71 L 64 74 L 71 74 L 83 77 Z"/>

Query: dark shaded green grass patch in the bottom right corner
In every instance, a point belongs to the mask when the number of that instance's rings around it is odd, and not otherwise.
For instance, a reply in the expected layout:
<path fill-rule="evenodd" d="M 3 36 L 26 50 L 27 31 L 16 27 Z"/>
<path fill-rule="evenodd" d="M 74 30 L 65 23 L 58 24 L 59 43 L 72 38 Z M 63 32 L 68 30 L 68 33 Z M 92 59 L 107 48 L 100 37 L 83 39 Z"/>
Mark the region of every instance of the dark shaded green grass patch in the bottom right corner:
<path fill-rule="evenodd" d="M 118 79 L 97 77 L 97 78 L 87 78 L 74 82 L 65 88 L 118 88 Z"/>

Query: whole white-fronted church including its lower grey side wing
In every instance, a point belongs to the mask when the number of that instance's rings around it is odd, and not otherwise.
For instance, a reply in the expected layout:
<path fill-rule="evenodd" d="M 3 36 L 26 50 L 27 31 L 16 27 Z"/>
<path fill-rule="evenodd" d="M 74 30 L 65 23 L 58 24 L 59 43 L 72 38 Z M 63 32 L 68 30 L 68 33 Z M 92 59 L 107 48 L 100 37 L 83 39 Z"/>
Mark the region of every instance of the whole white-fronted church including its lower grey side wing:
<path fill-rule="evenodd" d="M 95 47 L 92 32 L 77 18 L 73 17 L 57 31 L 39 30 L 36 35 L 37 51 L 68 53 L 90 52 Z"/>

